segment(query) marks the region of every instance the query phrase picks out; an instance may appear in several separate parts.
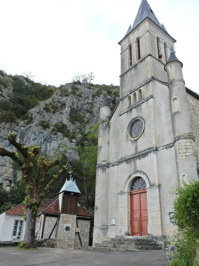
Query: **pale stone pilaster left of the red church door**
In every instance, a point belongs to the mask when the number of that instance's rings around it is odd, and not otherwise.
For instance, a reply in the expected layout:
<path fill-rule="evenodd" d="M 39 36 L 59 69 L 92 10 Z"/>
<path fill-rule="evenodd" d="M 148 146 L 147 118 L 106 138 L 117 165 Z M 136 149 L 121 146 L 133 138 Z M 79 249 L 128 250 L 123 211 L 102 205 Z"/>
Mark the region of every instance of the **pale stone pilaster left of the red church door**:
<path fill-rule="evenodd" d="M 131 235 L 130 226 L 130 192 L 118 193 L 118 235 Z"/>

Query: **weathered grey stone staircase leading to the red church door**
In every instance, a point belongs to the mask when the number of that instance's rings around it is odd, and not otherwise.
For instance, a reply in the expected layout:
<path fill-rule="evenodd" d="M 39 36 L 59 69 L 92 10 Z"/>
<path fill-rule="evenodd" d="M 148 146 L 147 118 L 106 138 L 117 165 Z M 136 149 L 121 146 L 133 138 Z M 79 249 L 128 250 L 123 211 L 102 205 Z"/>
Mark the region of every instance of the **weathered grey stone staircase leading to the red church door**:
<path fill-rule="evenodd" d="M 110 250 L 115 252 L 125 251 L 147 251 L 160 250 L 161 247 L 157 245 L 156 241 L 150 239 L 149 236 L 116 236 L 108 241 L 102 241 L 101 244 L 95 243 L 95 247 L 88 247 L 95 250 Z"/>

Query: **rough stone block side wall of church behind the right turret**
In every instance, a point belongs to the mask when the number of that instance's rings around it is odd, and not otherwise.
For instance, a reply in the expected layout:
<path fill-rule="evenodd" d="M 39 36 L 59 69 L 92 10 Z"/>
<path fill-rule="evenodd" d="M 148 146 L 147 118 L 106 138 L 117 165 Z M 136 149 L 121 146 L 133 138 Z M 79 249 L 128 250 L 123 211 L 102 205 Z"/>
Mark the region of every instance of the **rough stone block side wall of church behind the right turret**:
<path fill-rule="evenodd" d="M 195 138 L 195 146 L 196 150 L 199 150 L 199 100 L 188 93 L 186 95 L 191 118 L 191 128 Z"/>

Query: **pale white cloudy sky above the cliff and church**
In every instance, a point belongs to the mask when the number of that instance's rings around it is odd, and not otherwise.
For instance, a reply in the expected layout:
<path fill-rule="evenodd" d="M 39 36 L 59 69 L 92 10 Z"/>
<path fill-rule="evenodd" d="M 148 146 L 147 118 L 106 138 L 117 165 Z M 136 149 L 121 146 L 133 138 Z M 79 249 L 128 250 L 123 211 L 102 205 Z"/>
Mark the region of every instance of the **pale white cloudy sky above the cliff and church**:
<path fill-rule="evenodd" d="M 199 92 L 198 0 L 148 0 L 177 40 L 186 86 Z M 32 71 L 59 86 L 93 71 L 94 83 L 119 85 L 120 46 L 141 0 L 0 0 L 0 69 Z"/>

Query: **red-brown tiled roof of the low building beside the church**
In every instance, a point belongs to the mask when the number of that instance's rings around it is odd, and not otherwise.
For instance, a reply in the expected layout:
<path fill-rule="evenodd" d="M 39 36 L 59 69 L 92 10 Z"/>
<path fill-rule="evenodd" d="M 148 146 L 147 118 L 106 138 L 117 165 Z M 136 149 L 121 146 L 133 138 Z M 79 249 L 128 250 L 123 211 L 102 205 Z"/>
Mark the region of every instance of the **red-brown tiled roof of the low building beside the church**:
<path fill-rule="evenodd" d="M 24 215 L 25 210 L 26 210 L 26 206 L 24 205 L 24 203 L 21 203 L 15 206 L 14 208 L 7 210 L 5 212 L 9 214 Z M 44 199 L 38 208 L 38 215 L 41 215 L 43 212 L 60 214 L 59 196 L 56 196 L 55 198 L 51 200 Z M 86 208 L 83 208 L 82 206 L 77 206 L 77 215 L 86 216 L 86 217 L 94 217 L 93 214 L 91 214 Z"/>

